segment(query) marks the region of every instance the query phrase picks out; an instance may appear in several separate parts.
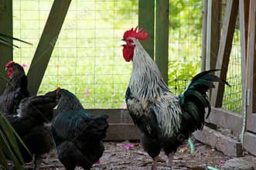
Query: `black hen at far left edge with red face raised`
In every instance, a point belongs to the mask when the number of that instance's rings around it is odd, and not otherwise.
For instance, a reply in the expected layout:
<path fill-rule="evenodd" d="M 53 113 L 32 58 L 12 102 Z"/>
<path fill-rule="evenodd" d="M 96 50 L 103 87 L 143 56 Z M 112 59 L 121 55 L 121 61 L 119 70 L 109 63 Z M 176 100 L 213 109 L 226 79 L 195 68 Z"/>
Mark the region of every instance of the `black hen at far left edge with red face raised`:
<path fill-rule="evenodd" d="M 0 106 L 3 114 L 6 115 L 15 113 L 20 101 L 29 97 L 29 91 L 27 89 L 27 76 L 19 63 L 10 61 L 5 65 L 5 70 L 9 76 L 9 83 L 7 83 L 4 93 L 0 96 Z"/>

